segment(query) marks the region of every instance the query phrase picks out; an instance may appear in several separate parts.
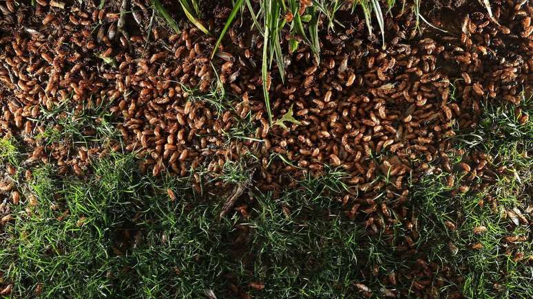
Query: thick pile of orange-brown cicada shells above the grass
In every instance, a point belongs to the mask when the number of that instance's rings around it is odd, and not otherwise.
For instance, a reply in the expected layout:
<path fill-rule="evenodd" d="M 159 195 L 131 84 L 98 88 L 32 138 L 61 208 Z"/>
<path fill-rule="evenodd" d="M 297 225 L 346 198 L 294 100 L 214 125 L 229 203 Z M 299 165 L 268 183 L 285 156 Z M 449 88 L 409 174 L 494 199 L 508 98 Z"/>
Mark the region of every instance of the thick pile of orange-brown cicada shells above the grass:
<path fill-rule="evenodd" d="M 481 7 L 472 8 L 457 26 L 443 28 L 448 32 L 425 34 L 431 37 L 419 37 L 412 15 L 388 19 L 384 47 L 368 42 L 359 21 L 324 32 L 320 62 L 305 46 L 287 55 L 284 84 L 273 68 L 274 120 L 293 107 L 300 122 L 284 129 L 269 124 L 266 115 L 258 32 L 229 30 L 227 45 L 211 61 L 214 38 L 196 28 L 180 34 L 158 26 L 125 30 L 120 11 L 99 10 L 91 2 L 65 9 L 62 2 L 41 0 L 32 14 L 33 8 L 13 1 L 0 8 L 2 135 L 21 136 L 32 149 L 26 162 L 53 159 L 61 173 L 83 175 L 91 159 L 122 147 L 145 155 L 140 167 L 154 175 L 185 176 L 200 166 L 216 173 L 249 152 L 260 158 L 255 179 L 262 188 L 280 188 L 286 174 L 320 175 L 328 165 L 346 170 L 348 184 L 363 192 L 382 190 L 380 177 L 387 177 L 393 182 L 387 196 L 404 200 L 413 172 L 435 166 L 452 172 L 447 140 L 477 124 L 482 102 L 518 102 L 533 76 L 533 9 L 526 4 L 497 6 L 499 23 Z M 139 21 L 138 14 L 130 18 Z M 224 113 L 189 99 L 191 89 L 211 89 L 216 76 L 234 97 L 233 109 Z M 74 115 L 59 113 L 56 120 L 75 120 L 84 105 L 107 105 L 125 145 L 47 144 L 38 138 L 54 125 L 43 114 L 65 103 Z M 249 138 L 226 134 L 247 117 L 255 130 Z M 527 122 L 527 115 L 519 117 Z M 87 127 L 83 134 L 96 131 Z M 291 165 L 271 161 L 273 153 Z M 487 163 L 479 154 L 461 167 L 482 177 Z"/>

